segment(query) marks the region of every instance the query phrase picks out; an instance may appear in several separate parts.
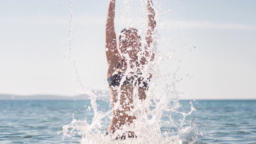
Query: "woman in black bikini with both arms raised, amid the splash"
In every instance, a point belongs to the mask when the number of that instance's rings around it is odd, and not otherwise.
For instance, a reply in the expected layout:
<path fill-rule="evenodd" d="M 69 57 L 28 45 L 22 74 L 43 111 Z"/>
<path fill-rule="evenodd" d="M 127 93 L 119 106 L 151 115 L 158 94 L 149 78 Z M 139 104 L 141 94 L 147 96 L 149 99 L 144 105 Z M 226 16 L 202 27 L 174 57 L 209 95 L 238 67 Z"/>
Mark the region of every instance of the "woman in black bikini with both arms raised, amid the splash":
<path fill-rule="evenodd" d="M 151 74 L 149 78 L 142 78 L 140 75 L 142 75 L 143 65 L 147 64 L 148 60 L 154 59 L 154 53 L 150 52 L 150 54 L 147 50 L 152 45 L 152 33 L 156 26 L 152 0 L 147 0 L 148 29 L 145 48 L 144 50 L 141 48 L 142 44 L 138 30 L 125 28 L 119 35 L 118 43 L 120 52 L 123 54 L 122 58 L 118 52 L 114 28 L 115 4 L 116 0 L 109 1 L 106 20 L 107 78 L 113 108 L 113 118 L 108 129 L 109 134 L 114 134 L 116 130 L 122 129 L 124 125 L 129 126 L 136 119 L 135 116 L 127 114 L 133 108 L 132 96 L 134 88 L 138 90 L 140 100 L 146 98 L 145 92 L 148 89 L 148 81 Z M 134 137 L 134 132 L 128 132 L 128 137 Z M 123 135 L 121 138 L 125 138 L 125 136 Z"/>

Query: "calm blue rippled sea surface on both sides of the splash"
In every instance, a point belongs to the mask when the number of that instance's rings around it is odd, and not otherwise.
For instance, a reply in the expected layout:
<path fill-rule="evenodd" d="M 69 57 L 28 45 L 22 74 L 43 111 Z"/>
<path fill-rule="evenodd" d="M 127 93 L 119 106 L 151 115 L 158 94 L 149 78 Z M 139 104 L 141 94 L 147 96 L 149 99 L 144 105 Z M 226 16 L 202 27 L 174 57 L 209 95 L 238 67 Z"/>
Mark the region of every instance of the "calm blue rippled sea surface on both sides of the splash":
<path fill-rule="evenodd" d="M 186 121 L 194 123 L 198 139 L 182 143 L 256 144 L 256 100 L 180 100 L 181 110 L 190 110 L 190 102 L 196 111 L 186 116 Z M 108 102 L 97 101 L 97 104 L 99 110 L 110 108 Z M 72 122 L 72 114 L 76 120 L 86 117 L 90 124 L 94 113 L 88 106 L 89 100 L 1 100 L 0 144 L 80 143 L 79 134 L 63 138 L 62 126 Z M 180 118 L 174 115 L 173 120 L 179 122 Z M 104 124 L 102 135 L 108 124 Z M 177 129 L 163 124 L 161 132 L 175 136 Z"/>

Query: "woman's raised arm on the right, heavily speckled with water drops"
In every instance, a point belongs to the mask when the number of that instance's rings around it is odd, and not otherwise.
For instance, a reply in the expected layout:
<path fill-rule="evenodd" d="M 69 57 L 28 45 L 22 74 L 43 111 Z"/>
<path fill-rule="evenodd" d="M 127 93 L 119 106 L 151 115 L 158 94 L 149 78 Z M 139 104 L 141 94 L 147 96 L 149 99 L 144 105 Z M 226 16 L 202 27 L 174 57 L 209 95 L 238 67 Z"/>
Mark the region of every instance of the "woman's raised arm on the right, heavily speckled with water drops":
<path fill-rule="evenodd" d="M 152 45 L 152 34 L 153 31 L 156 27 L 156 20 L 154 19 L 155 17 L 155 11 L 154 11 L 154 7 L 153 7 L 153 3 L 152 0 L 147 0 L 147 4 L 146 4 L 146 10 L 147 10 L 147 16 L 148 16 L 148 30 L 146 32 L 146 47 L 145 50 L 148 51 L 148 48 Z M 154 52 L 151 52 L 151 59 L 150 61 L 152 61 L 154 59 Z M 146 56 L 149 56 L 149 54 L 147 53 Z"/>

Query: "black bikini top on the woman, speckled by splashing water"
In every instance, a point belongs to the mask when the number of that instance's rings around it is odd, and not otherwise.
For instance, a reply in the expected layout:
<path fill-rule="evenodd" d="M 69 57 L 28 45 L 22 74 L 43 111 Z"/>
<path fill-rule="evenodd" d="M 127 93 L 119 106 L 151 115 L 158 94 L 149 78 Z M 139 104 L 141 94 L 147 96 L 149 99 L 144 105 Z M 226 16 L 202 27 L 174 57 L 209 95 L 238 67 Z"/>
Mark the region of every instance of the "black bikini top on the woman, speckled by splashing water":
<path fill-rule="evenodd" d="M 119 63 L 118 66 L 120 64 L 121 63 Z M 118 66 L 116 67 L 116 69 L 118 69 Z M 141 75 L 141 73 L 138 75 Z M 137 84 L 138 84 L 138 86 L 140 86 L 139 88 L 148 88 L 148 82 L 150 81 L 150 78 L 147 78 L 147 80 L 144 80 L 144 78 L 142 78 L 141 76 L 139 77 L 138 75 L 134 75 L 131 77 L 126 76 L 126 80 L 123 82 L 122 85 L 125 85 L 125 84 L 133 85 L 134 84 L 135 86 L 137 86 Z M 114 87 L 119 86 L 123 76 L 124 76 L 124 74 L 122 72 L 116 72 L 116 70 L 115 70 L 108 77 L 109 87 L 110 86 L 114 86 Z"/>

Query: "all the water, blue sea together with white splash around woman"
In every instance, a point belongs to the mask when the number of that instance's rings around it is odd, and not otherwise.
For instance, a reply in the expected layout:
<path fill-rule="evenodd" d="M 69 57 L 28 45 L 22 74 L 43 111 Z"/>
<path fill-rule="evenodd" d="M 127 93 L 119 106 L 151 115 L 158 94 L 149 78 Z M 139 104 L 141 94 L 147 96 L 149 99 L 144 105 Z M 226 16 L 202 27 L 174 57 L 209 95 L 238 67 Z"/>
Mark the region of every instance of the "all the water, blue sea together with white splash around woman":
<path fill-rule="evenodd" d="M 136 4 L 137 2 L 137 4 Z M 156 57 L 153 62 L 144 66 L 142 73 L 150 80 L 146 100 L 139 100 L 134 92 L 134 109 L 131 114 L 136 120 L 130 126 L 124 126 L 114 135 L 106 136 L 112 118 L 108 92 L 95 94 L 85 88 L 86 82 L 80 79 L 80 69 L 76 66 L 78 58 L 73 52 L 74 46 L 74 1 L 71 0 L 70 30 L 67 34 L 72 67 L 80 84 L 80 92 L 88 94 L 85 101 L 0 101 L 1 143 L 254 143 L 256 141 L 256 104 L 255 101 L 180 101 L 181 92 L 176 91 L 176 82 L 182 77 L 178 62 L 179 55 L 195 46 L 186 41 L 184 28 L 172 29 L 181 22 L 170 22 L 170 15 L 178 14 L 170 8 L 164 8 L 167 1 L 155 2 L 157 28 L 154 32 L 153 50 Z M 126 23 L 124 27 L 146 28 L 145 1 L 121 2 L 122 14 L 116 16 Z M 181 7 L 182 9 L 182 7 Z M 158 11 L 159 10 L 159 11 Z M 118 9 L 117 9 L 118 11 Z M 172 19 L 175 16 L 172 15 Z M 138 20 L 141 20 L 138 24 Z M 136 23 L 137 22 L 137 23 Z M 119 23 L 120 24 L 120 23 Z M 142 28 L 139 33 L 145 35 Z M 86 28 L 85 28 L 86 29 Z M 170 34 L 171 33 L 171 34 Z M 178 33 L 178 36 L 176 35 Z M 182 44 L 176 42 L 182 40 Z M 104 44 L 103 44 L 104 45 Z M 190 45 L 191 47 L 188 48 Z M 101 46 L 99 46 L 101 47 Z M 104 51 L 104 48 L 102 49 Z M 149 60 L 148 60 L 149 61 Z M 129 68 L 126 70 L 133 71 Z M 178 77 L 178 78 L 177 78 Z M 125 78 L 125 76 L 124 76 Z M 124 79 L 123 79 L 124 80 Z M 122 81 L 121 81 L 122 82 Z M 136 89 L 136 88 L 135 88 Z M 118 89 L 120 91 L 120 89 Z M 101 100 L 98 100 L 101 99 Z M 103 100 L 102 100 L 103 99 Z M 118 105 L 118 103 L 116 104 Z M 133 131 L 137 138 L 115 140 L 118 134 Z M 62 140 L 63 139 L 63 140 Z"/>

